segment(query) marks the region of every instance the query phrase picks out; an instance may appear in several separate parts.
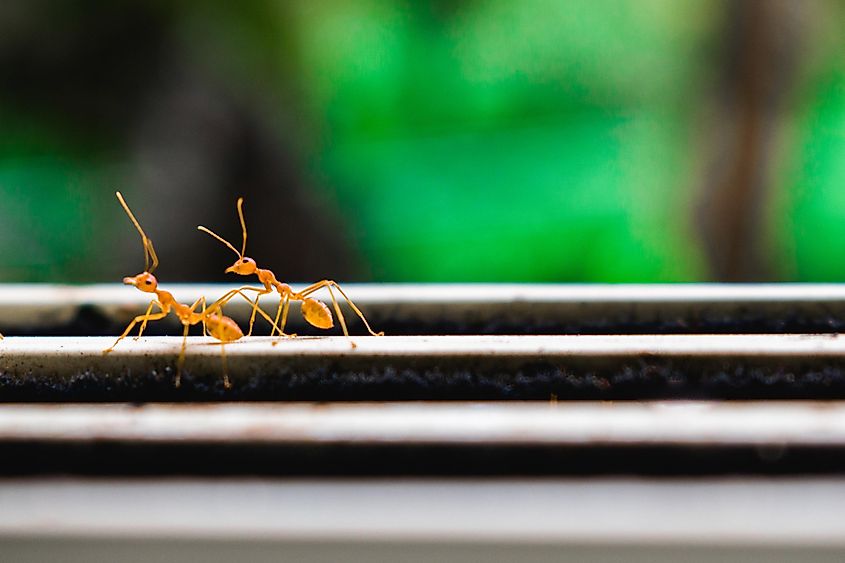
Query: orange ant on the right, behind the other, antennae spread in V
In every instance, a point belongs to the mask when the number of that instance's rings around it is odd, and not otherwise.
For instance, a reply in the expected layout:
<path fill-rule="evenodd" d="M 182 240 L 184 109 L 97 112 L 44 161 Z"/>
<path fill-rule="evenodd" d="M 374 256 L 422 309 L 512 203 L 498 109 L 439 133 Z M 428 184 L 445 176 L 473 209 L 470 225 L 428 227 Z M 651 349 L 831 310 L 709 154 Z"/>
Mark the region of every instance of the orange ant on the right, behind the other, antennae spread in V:
<path fill-rule="evenodd" d="M 332 288 L 336 289 L 340 292 L 349 306 L 355 311 L 355 314 L 364 321 L 364 326 L 367 327 L 369 333 L 373 336 L 384 336 L 383 332 L 374 332 L 372 328 L 370 328 L 370 324 L 367 322 L 367 319 L 364 318 L 364 313 L 352 302 L 351 299 L 344 293 L 344 291 L 340 288 L 340 285 L 337 282 L 332 280 L 322 280 L 318 281 L 317 283 L 311 284 L 302 291 L 296 292 L 291 289 L 291 287 L 286 284 L 282 283 L 276 279 L 275 274 L 272 271 L 259 268 L 258 264 L 252 258 L 246 256 L 246 221 L 244 220 L 244 212 L 243 212 L 243 202 L 244 198 L 238 198 L 238 217 L 241 220 L 241 229 L 243 231 L 243 245 L 241 246 L 241 251 L 238 252 L 234 246 L 232 246 L 229 241 L 221 237 L 220 235 L 214 233 L 210 229 L 199 226 L 197 229 L 200 231 L 207 233 L 227 247 L 229 247 L 232 252 L 237 254 L 238 259 L 235 261 L 234 264 L 226 268 L 226 273 L 235 273 L 241 276 L 249 276 L 255 274 L 258 276 L 258 281 L 260 281 L 264 288 L 256 288 L 256 287 L 242 287 L 239 290 L 252 290 L 256 292 L 255 295 L 255 302 L 252 303 L 252 315 L 249 319 L 249 332 L 247 334 L 252 334 L 252 325 L 255 321 L 255 314 L 257 311 L 261 311 L 260 307 L 258 306 L 258 300 L 261 298 L 262 295 L 266 295 L 268 293 L 272 293 L 274 290 L 279 293 L 280 300 L 279 300 L 279 307 L 276 310 L 276 318 L 273 321 L 273 332 L 270 333 L 272 336 L 275 331 L 278 329 L 280 337 L 294 337 L 295 334 L 285 334 L 284 328 L 285 324 L 287 323 L 287 316 L 288 316 L 288 309 L 290 308 L 291 301 L 301 301 L 302 302 L 302 316 L 305 320 L 317 327 L 322 329 L 329 329 L 334 326 L 334 322 L 332 320 L 332 313 L 329 310 L 328 306 L 322 301 L 314 299 L 313 297 L 309 297 L 312 293 L 316 291 L 326 288 L 329 292 L 329 296 L 332 299 L 332 305 L 334 306 L 335 313 L 337 314 L 337 319 L 340 321 L 340 326 L 343 329 L 343 334 L 349 338 L 349 331 L 346 329 L 346 320 L 343 317 L 343 313 L 340 310 L 340 306 L 338 305 L 337 299 L 335 298 L 334 292 Z M 239 291 L 235 290 L 235 291 Z M 263 313 L 263 311 L 262 311 Z M 281 325 L 279 325 L 279 317 L 281 316 Z M 350 340 L 350 342 L 352 342 Z M 352 342 L 352 346 L 355 346 L 355 343 Z"/>

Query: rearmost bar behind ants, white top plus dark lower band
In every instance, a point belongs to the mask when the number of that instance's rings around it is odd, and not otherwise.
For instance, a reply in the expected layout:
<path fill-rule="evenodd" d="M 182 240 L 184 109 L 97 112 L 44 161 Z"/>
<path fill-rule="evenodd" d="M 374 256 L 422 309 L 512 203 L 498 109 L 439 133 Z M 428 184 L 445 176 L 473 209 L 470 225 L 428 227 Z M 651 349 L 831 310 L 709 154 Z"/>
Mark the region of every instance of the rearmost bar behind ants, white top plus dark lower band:
<path fill-rule="evenodd" d="M 255 285 L 255 284 L 250 284 Z M 234 285 L 165 286 L 176 298 L 214 299 Z M 825 332 L 845 328 L 841 284 L 349 284 L 344 286 L 378 330 L 389 334 L 601 332 Z M 318 294 L 328 300 L 323 292 Z M 262 300 L 272 310 L 277 296 Z M 117 284 L 1 285 L 0 332 L 117 333 L 143 311 L 149 295 Z M 296 331 L 308 330 L 297 314 Z M 226 313 L 239 322 L 249 305 Z M 353 330 L 360 322 L 347 312 Z M 173 322 L 154 324 L 151 330 Z M 258 325 L 261 330 L 260 323 Z M 88 331 L 88 332 L 85 332 Z"/>

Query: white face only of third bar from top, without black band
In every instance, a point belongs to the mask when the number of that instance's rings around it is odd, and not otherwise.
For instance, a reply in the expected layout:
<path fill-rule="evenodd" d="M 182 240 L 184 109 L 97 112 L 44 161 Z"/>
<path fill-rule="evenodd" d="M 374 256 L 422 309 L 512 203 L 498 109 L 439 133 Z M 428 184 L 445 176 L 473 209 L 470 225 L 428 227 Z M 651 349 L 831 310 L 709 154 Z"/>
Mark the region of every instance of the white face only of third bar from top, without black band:
<path fill-rule="evenodd" d="M 0 441 L 845 447 L 845 403 L 5 405 Z"/>

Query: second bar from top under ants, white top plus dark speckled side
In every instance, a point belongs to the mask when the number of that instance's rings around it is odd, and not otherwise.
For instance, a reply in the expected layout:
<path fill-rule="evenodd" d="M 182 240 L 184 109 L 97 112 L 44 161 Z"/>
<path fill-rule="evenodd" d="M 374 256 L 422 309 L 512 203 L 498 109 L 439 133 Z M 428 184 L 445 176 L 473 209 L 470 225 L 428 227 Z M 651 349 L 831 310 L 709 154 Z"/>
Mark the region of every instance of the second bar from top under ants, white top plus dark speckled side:
<path fill-rule="evenodd" d="M 845 398 L 833 335 L 188 340 L 177 390 L 181 338 L 8 337 L 0 401 Z"/>

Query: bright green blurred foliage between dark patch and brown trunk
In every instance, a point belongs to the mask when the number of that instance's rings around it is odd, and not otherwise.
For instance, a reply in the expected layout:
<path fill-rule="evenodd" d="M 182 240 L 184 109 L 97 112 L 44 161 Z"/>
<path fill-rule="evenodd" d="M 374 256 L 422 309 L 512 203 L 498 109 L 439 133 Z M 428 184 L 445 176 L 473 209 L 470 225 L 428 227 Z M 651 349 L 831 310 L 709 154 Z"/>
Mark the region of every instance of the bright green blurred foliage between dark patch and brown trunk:
<path fill-rule="evenodd" d="M 297 20 L 314 166 L 379 277 L 700 276 L 676 209 L 712 4 L 437 5 Z"/>

